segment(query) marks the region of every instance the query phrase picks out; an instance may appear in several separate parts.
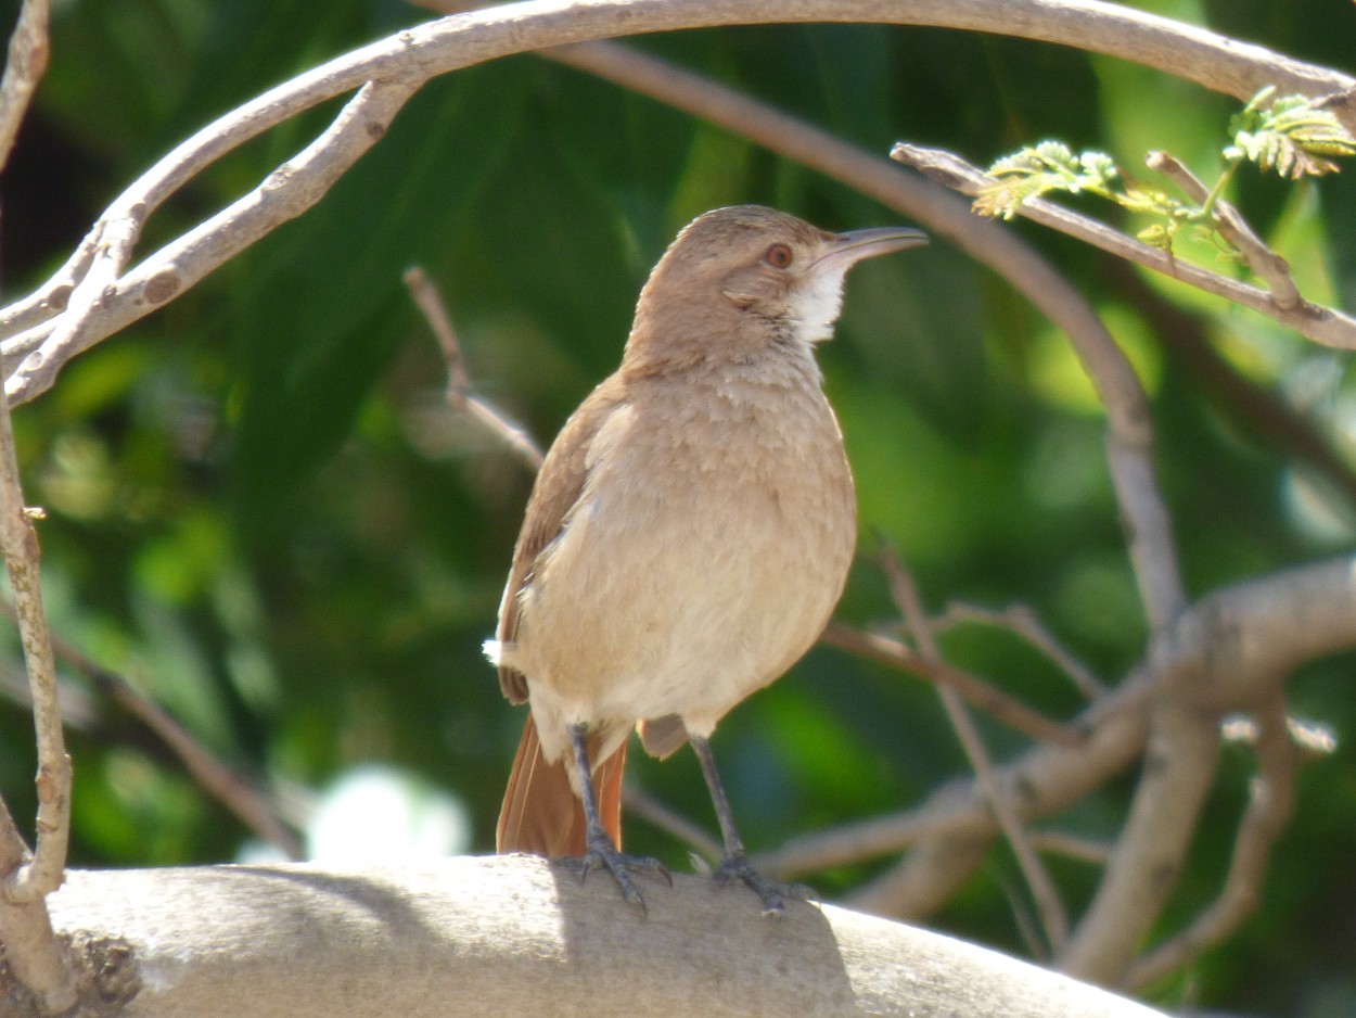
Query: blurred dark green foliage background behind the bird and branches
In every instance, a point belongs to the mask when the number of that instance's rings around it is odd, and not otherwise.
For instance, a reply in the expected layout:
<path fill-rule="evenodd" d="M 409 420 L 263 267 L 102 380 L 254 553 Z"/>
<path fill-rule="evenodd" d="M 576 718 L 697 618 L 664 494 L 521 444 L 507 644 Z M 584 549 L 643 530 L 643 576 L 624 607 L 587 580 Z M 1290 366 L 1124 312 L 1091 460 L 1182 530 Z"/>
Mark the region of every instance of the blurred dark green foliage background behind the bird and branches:
<path fill-rule="evenodd" d="M 1356 69 L 1352 4 L 1140 7 Z M 53 271 L 118 191 L 209 119 L 427 18 L 395 0 L 54 8 L 52 69 L 0 179 L 8 299 Z M 0 10 L 12 23 L 14 0 Z M 636 45 L 881 155 L 902 138 L 987 163 L 1060 137 L 1131 168 L 1168 148 L 1208 175 L 1238 106 L 1139 67 L 953 31 L 761 27 Z M 152 220 L 142 250 L 255 186 L 335 109 L 214 166 Z M 1356 172 L 1290 186 L 1245 171 L 1234 197 L 1309 296 L 1352 305 Z M 396 842 L 404 824 L 416 840 L 491 850 L 522 711 L 502 699 L 480 641 L 530 476 L 445 410 L 442 361 L 401 271 L 422 265 L 443 288 L 476 388 L 546 444 L 616 365 L 636 292 L 673 233 L 742 201 L 827 228 L 898 221 L 736 137 L 536 57 L 434 81 L 320 206 L 75 361 L 19 411 L 26 494 L 49 513 L 41 536 L 56 631 L 281 789 L 298 814 L 321 804 L 342 846 L 354 839 L 342 820 L 357 817 Z M 1344 493 L 1340 478 L 1356 471 L 1356 391 L 1345 356 L 1014 228 L 1097 304 L 1142 372 L 1193 595 L 1351 548 L 1353 487 Z M 1200 345 L 1307 418 L 1340 466 L 1314 470 L 1254 407 L 1222 399 L 1188 356 Z M 1104 421 L 1062 335 L 937 243 L 857 270 L 838 342 L 820 356 L 857 474 L 864 552 L 873 531 L 887 535 L 933 608 L 1032 605 L 1108 680 L 1136 661 L 1144 623 Z M 860 562 L 839 618 L 892 614 L 877 570 Z M 1069 683 L 1010 637 L 970 627 L 946 650 L 1054 717 L 1079 707 Z M 1154 1000 L 1356 1013 L 1356 752 L 1342 738 L 1356 721 L 1352 665 L 1321 662 L 1291 683 L 1294 710 L 1341 741 L 1300 775 L 1260 912 L 1154 987 Z M 11 647 L 0 791 L 24 817 L 34 761 L 12 695 L 20 676 Z M 259 854 L 155 738 L 71 681 L 84 692 L 71 729 L 75 865 Z M 1022 747 L 984 730 L 999 757 Z M 904 808 L 965 771 L 929 688 L 823 647 L 735 711 L 716 751 L 755 851 Z M 632 759 L 637 786 L 715 829 L 690 753 L 662 766 Z M 1226 751 L 1161 934 L 1216 893 L 1252 767 L 1245 749 Z M 1113 837 L 1130 780 L 1050 825 Z M 392 787 L 403 798 L 382 798 Z M 411 816 L 399 816 L 400 802 Z M 381 809 L 395 812 L 367 812 Z M 323 827 L 312 824 L 313 846 Z M 628 839 L 686 869 L 685 847 L 667 835 L 632 821 Z M 880 865 L 812 882 L 831 897 Z M 1086 901 L 1096 870 L 1052 865 L 1071 907 Z M 1010 854 L 995 848 L 929 922 L 1022 953 L 1017 886 Z"/>

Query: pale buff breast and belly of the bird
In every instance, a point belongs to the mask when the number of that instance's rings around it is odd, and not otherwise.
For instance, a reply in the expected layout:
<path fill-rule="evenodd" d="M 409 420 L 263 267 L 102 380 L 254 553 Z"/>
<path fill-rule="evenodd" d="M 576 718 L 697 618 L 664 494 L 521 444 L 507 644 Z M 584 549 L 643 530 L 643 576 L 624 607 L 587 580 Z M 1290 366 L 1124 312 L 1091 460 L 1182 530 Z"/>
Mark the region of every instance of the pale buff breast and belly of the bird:
<path fill-rule="evenodd" d="M 734 365 L 647 387 L 594 438 L 523 592 L 515 654 L 575 719 L 713 725 L 819 635 L 854 542 L 818 377 L 751 384 Z"/>

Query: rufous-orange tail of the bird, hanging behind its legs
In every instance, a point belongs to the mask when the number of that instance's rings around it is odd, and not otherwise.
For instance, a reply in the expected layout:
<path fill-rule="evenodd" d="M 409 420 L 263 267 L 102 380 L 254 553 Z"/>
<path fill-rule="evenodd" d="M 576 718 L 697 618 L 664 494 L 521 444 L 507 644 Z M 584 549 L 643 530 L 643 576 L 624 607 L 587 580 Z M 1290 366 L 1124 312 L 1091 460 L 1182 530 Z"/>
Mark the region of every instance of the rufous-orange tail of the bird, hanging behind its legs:
<path fill-rule="evenodd" d="M 598 738 L 589 740 L 589 760 L 598 751 Z M 504 805 L 499 810 L 496 847 L 500 854 L 583 855 L 584 806 L 570 786 L 572 761 L 546 763 L 537 740 L 537 723 L 527 714 L 518 755 L 513 760 Z M 598 818 L 617 848 L 621 848 L 621 775 L 626 770 L 626 744 L 601 764 L 593 764 Z"/>

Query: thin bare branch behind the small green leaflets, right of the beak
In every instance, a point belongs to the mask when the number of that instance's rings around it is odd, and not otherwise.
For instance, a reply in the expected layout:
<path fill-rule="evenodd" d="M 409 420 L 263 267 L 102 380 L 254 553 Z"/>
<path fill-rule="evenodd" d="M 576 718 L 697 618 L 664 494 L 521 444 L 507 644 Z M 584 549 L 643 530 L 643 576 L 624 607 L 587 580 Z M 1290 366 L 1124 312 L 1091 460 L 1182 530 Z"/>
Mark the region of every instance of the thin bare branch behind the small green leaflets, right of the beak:
<path fill-rule="evenodd" d="M 900 143 L 895 145 L 891 155 L 961 194 L 978 194 L 989 179 L 983 170 L 951 152 Z M 1281 307 L 1268 289 L 1231 280 L 1191 262 L 1182 262 L 1169 251 L 1146 244 L 1089 216 L 1070 212 L 1044 198 L 1032 198 L 1024 202 L 1018 212 L 1033 223 L 1069 233 L 1069 236 L 1102 251 L 1109 251 L 1117 258 L 1136 262 L 1207 293 L 1250 308 L 1315 343 L 1342 350 L 1356 349 L 1356 319 L 1341 311 L 1303 300 L 1295 307 Z"/>

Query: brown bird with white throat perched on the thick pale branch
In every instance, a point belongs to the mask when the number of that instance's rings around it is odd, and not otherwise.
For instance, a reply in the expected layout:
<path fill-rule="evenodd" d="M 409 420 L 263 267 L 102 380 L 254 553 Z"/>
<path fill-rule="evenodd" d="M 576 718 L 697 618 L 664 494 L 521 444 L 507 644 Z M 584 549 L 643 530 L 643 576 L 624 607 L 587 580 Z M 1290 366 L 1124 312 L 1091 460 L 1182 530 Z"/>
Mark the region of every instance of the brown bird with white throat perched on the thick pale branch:
<path fill-rule="evenodd" d="M 698 216 L 655 266 L 621 366 L 546 455 L 485 643 L 504 695 L 532 707 L 500 852 L 580 856 L 644 908 L 631 874 L 667 871 L 620 851 L 639 728 L 654 756 L 692 742 L 724 837 L 717 880 L 781 912 L 791 889 L 749 865 L 708 740 L 842 593 L 856 494 L 814 345 L 848 269 L 925 242 L 743 205 Z"/>

